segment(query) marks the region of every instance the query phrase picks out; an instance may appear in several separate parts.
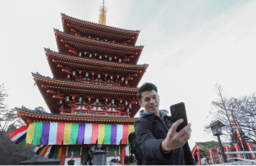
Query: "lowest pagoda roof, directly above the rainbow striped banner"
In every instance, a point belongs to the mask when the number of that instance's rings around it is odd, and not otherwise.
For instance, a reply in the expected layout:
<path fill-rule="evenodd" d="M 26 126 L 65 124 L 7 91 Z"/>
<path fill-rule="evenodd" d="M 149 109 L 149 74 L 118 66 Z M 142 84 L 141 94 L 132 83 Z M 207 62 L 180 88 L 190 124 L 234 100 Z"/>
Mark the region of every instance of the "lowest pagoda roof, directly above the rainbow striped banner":
<path fill-rule="evenodd" d="M 25 106 L 15 108 L 25 123 L 57 122 L 57 123 L 105 123 L 105 124 L 134 124 L 139 118 L 127 116 L 93 115 L 93 114 L 54 114 L 39 109 L 30 110 Z"/>

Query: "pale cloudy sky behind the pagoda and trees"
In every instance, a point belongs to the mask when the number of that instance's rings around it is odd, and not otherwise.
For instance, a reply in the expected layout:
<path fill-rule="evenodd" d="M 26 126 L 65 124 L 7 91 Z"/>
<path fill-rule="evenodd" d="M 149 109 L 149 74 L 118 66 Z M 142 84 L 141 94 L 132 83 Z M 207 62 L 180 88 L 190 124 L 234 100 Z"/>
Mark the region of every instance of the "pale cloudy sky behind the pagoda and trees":
<path fill-rule="evenodd" d="M 53 77 L 43 48 L 57 52 L 53 29 L 61 13 L 98 23 L 102 0 L 0 1 L 0 83 L 10 108 L 48 111 L 31 72 Z M 195 142 L 215 140 L 203 132 L 208 111 L 219 98 L 255 92 L 256 1 L 252 0 L 105 0 L 107 25 L 140 30 L 138 64 L 149 64 L 141 79 L 158 86 L 160 109 L 185 102 Z M 170 114 L 170 113 L 169 113 Z"/>

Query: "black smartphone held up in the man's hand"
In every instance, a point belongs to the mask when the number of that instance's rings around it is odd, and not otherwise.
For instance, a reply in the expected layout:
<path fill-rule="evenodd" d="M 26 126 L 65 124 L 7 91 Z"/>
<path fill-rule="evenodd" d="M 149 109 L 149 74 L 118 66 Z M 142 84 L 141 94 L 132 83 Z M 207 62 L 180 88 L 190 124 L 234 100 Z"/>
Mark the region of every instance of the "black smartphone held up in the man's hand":
<path fill-rule="evenodd" d="M 181 129 L 188 124 L 188 119 L 185 113 L 185 104 L 184 102 L 181 102 L 176 105 L 171 105 L 170 110 L 172 123 L 175 123 L 178 119 L 183 119 L 183 122 L 176 129 L 176 132 L 180 132 Z"/>

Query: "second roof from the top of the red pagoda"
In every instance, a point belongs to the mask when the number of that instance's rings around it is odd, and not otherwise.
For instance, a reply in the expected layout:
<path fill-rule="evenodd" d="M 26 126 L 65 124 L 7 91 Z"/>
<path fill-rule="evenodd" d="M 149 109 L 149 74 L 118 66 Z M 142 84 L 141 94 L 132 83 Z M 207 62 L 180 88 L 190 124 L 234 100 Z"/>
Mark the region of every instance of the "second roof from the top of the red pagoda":
<path fill-rule="evenodd" d="M 58 29 L 54 29 L 54 33 L 58 51 L 62 53 L 75 52 L 78 55 L 78 52 L 94 52 L 104 56 L 130 58 L 130 64 L 136 64 L 144 48 L 144 46 L 129 46 L 95 38 L 75 36 L 61 32 Z"/>

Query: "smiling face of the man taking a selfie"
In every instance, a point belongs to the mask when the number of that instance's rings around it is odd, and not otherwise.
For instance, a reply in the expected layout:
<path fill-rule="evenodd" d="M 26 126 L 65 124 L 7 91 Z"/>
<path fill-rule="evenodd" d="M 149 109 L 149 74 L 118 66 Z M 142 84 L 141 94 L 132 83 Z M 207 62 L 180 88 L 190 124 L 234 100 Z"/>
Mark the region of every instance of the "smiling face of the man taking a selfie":
<path fill-rule="evenodd" d="M 151 114 L 158 114 L 159 107 L 159 96 L 157 92 L 146 91 L 141 93 L 141 101 L 139 101 L 139 105 L 144 107 Z"/>

